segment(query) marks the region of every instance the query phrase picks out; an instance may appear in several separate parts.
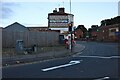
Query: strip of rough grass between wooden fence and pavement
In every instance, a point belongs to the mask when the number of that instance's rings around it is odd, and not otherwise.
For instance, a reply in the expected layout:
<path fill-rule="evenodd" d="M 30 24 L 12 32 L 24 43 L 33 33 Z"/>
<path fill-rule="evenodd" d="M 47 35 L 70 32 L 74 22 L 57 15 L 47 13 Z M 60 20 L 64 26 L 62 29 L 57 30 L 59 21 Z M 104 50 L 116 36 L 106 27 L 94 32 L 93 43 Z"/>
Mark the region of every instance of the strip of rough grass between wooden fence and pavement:
<path fill-rule="evenodd" d="M 2 48 L 2 55 L 17 56 L 17 55 L 23 55 L 23 54 L 41 54 L 45 52 L 60 51 L 63 49 L 65 49 L 65 47 L 63 45 L 59 45 L 59 46 L 49 46 L 49 47 L 37 47 L 37 52 L 25 53 L 25 51 L 23 51 L 21 53 L 17 53 L 15 48 Z"/>

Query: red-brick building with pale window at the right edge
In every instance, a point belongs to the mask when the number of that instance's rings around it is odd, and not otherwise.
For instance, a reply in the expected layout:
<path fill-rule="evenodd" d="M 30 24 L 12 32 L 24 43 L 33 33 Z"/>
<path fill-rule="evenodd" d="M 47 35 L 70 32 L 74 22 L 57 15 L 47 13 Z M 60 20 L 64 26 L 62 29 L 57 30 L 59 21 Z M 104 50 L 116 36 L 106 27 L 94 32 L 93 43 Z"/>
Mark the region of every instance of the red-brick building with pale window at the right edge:
<path fill-rule="evenodd" d="M 101 26 L 97 38 L 100 41 L 120 41 L 120 24 Z"/>

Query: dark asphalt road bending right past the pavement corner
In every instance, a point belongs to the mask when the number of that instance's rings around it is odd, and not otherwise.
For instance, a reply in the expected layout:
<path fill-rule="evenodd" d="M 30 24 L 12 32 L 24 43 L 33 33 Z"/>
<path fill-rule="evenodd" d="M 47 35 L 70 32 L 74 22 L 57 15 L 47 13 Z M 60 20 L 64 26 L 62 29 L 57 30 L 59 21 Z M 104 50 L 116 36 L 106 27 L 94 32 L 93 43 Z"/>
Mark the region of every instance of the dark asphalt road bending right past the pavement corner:
<path fill-rule="evenodd" d="M 117 43 L 77 42 L 86 48 L 71 57 L 3 68 L 3 78 L 88 78 L 118 80 Z M 70 61 L 80 61 L 71 65 Z M 66 66 L 67 65 L 67 66 Z M 56 68 L 57 67 L 57 68 Z M 43 71 L 44 69 L 51 69 Z"/>

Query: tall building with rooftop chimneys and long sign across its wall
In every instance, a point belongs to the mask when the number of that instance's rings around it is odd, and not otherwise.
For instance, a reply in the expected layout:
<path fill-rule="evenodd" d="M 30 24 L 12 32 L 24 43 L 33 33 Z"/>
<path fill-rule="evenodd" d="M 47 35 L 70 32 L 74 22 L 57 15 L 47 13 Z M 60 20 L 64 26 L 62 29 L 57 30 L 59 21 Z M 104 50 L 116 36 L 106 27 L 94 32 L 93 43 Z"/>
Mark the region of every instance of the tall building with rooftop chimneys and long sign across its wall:
<path fill-rule="evenodd" d="M 53 10 L 53 13 L 48 14 L 48 27 L 49 28 L 68 28 L 68 23 L 72 22 L 74 15 L 65 13 L 65 8 L 57 8 Z"/>

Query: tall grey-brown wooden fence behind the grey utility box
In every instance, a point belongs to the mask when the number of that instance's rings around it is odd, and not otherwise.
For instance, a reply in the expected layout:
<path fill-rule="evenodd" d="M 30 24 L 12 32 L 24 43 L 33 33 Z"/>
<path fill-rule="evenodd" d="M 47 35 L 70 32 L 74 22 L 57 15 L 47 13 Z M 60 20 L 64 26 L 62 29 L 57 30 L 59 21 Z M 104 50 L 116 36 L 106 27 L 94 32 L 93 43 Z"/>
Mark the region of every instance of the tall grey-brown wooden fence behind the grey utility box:
<path fill-rule="evenodd" d="M 23 40 L 24 47 L 53 46 L 59 44 L 58 32 L 2 32 L 2 47 L 11 48 L 16 46 L 17 40 Z"/>

